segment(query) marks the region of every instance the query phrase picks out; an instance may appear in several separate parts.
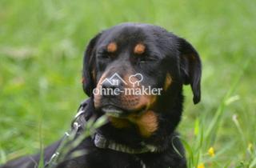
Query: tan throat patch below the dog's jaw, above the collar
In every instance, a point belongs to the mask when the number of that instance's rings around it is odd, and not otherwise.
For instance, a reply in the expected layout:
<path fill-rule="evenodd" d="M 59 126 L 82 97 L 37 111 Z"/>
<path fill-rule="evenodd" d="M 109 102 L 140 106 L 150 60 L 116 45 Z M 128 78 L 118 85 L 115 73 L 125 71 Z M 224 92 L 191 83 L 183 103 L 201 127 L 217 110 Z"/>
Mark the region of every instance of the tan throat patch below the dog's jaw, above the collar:
<path fill-rule="evenodd" d="M 131 122 L 138 126 L 140 134 L 146 138 L 150 137 L 158 129 L 158 117 L 152 110 L 147 111 L 138 118 L 132 118 Z"/>

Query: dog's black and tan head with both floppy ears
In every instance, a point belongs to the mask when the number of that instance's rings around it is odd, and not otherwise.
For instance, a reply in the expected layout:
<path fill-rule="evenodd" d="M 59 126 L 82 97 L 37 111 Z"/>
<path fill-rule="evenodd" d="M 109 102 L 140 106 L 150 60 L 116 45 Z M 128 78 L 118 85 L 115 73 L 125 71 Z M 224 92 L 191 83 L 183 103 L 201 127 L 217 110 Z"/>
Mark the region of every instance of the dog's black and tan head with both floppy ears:
<path fill-rule="evenodd" d="M 90 40 L 83 64 L 83 89 L 113 121 L 156 122 L 163 102 L 182 103 L 183 84 L 200 101 L 197 51 L 158 26 L 125 23 L 102 31 Z"/>

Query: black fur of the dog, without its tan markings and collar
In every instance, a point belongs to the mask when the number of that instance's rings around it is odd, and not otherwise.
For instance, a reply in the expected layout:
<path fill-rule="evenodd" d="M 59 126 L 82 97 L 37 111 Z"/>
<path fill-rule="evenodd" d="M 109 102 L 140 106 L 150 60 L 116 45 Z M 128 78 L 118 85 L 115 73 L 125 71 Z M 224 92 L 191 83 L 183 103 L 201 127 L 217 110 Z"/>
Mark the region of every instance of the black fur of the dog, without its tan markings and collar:
<path fill-rule="evenodd" d="M 102 46 L 113 41 L 118 43 L 116 55 L 111 59 L 106 58 L 104 55 L 106 51 L 102 51 L 104 49 Z M 138 42 L 146 44 L 143 57 L 137 57 L 132 53 L 133 46 Z M 159 26 L 125 23 L 102 31 L 89 42 L 83 66 L 83 89 L 90 96 L 86 106 L 86 118 L 93 115 L 97 118 L 104 114 L 101 109 L 95 109 L 92 90 L 106 70 L 118 71 L 122 75 L 126 74 L 127 69 L 134 70 L 144 75 L 143 85 L 155 87 L 162 87 L 166 74 L 170 74 L 172 78 L 170 87 L 158 96 L 156 104 L 152 107 L 158 116 L 158 129 L 154 131 L 154 134 L 145 138 L 138 133 L 136 126 L 118 129 L 110 122 L 98 129 L 107 139 L 131 148 L 139 148 L 138 144 L 143 142 L 160 146 L 164 150 L 157 153 L 126 154 L 99 149 L 94 146 L 91 138 L 86 138 L 73 149 L 86 150 L 86 154 L 60 163 L 58 168 L 139 168 L 142 167 L 142 162 L 146 168 L 186 168 L 185 152 L 174 130 L 182 117 L 182 85 L 190 84 L 194 94 L 194 103 L 198 103 L 201 98 L 202 73 L 198 52 L 189 42 Z M 105 102 L 108 103 L 106 100 Z M 118 100 L 114 102 L 118 103 Z M 50 159 L 58 143 L 46 148 L 45 161 Z M 39 154 L 32 158 L 10 161 L 1 168 L 34 168 L 35 162 L 39 160 Z"/>

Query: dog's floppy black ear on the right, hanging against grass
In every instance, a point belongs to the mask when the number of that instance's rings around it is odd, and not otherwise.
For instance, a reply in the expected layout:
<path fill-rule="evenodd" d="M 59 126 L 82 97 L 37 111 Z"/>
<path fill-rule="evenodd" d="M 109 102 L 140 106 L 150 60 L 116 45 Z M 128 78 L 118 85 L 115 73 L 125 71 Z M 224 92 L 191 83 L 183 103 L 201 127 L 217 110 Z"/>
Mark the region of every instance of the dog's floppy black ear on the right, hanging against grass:
<path fill-rule="evenodd" d="M 179 52 L 183 83 L 185 85 L 190 84 L 194 94 L 194 104 L 197 104 L 201 99 L 200 82 L 202 75 L 202 65 L 199 54 L 194 47 L 183 38 L 179 38 Z"/>

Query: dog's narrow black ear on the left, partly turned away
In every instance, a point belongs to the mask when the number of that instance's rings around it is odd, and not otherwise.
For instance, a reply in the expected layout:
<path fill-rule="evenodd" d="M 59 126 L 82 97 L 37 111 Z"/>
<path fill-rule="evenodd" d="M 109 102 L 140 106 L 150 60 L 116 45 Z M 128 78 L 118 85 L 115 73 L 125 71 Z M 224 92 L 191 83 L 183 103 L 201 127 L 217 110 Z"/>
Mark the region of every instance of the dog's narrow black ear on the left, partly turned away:
<path fill-rule="evenodd" d="M 86 46 L 86 51 L 83 58 L 82 68 L 82 88 L 88 95 L 92 95 L 92 91 L 96 85 L 95 83 L 95 45 L 98 42 L 98 38 L 101 34 L 97 34 L 92 38 L 89 44 Z"/>

